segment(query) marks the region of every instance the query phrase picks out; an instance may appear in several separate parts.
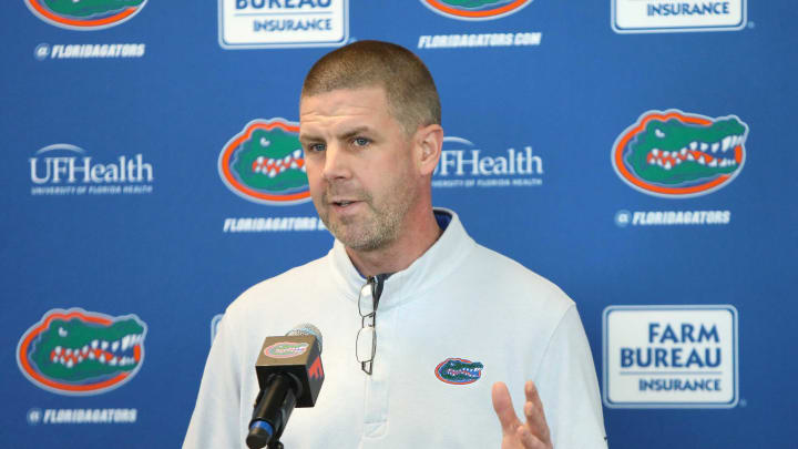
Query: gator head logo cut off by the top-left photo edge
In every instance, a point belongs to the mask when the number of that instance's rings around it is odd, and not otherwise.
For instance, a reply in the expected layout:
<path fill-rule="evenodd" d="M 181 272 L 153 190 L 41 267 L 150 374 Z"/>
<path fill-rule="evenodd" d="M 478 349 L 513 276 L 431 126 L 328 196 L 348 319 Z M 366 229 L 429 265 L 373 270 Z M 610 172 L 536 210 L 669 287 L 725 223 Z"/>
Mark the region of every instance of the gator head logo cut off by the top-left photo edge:
<path fill-rule="evenodd" d="M 24 0 L 39 19 L 69 30 L 101 30 L 137 14 L 147 0 Z"/>

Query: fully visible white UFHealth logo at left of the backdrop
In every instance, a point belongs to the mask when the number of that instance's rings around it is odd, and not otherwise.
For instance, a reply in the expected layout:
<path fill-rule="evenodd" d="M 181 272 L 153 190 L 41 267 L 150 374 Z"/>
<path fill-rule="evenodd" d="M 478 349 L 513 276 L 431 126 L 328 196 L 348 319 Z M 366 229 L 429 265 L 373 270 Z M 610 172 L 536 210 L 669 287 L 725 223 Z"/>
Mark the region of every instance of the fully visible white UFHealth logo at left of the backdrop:
<path fill-rule="evenodd" d="M 119 195 L 153 192 L 153 167 L 139 153 L 99 163 L 80 146 L 48 145 L 28 160 L 31 195 Z"/>

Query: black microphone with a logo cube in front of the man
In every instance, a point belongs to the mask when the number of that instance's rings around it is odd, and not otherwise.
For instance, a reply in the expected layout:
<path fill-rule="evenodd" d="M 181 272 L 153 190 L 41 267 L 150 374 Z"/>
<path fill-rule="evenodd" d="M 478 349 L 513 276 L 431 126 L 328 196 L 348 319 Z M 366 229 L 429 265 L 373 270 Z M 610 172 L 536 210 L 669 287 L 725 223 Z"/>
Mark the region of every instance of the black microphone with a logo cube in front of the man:
<path fill-rule="evenodd" d="M 260 392 L 246 443 L 250 449 L 282 448 L 279 438 L 294 407 L 315 406 L 321 390 L 321 333 L 300 324 L 284 337 L 266 337 L 255 371 Z"/>

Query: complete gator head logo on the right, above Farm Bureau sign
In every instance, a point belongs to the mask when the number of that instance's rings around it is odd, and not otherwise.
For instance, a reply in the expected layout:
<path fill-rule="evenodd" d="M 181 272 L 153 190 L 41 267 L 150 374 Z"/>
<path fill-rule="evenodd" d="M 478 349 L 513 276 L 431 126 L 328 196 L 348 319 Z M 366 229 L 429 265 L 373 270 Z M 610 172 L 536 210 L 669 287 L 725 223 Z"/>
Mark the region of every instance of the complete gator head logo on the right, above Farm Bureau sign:
<path fill-rule="evenodd" d="M 626 184 L 648 195 L 706 195 L 743 170 L 747 136 L 748 125 L 735 115 L 648 111 L 617 137 L 612 163 Z"/>

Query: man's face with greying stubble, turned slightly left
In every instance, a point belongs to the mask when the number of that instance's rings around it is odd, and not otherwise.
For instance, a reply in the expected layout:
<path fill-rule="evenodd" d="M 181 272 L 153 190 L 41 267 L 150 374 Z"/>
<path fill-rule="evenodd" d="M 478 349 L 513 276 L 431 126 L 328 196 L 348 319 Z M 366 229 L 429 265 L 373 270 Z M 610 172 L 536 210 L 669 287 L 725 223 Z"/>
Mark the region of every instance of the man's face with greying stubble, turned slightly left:
<path fill-rule="evenodd" d="M 299 140 L 316 211 L 356 251 L 383 248 L 418 201 L 411 140 L 388 112 L 382 88 L 301 99 Z"/>

